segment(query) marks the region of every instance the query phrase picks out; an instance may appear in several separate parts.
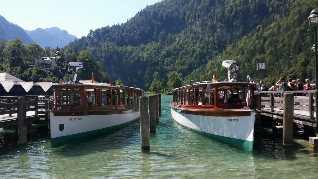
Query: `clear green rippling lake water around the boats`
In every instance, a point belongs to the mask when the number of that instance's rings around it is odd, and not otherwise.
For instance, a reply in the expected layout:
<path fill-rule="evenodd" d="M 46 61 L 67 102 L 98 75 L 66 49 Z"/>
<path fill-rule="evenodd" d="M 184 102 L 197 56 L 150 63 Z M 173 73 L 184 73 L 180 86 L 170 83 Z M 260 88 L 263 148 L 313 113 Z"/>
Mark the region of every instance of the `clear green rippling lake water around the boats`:
<path fill-rule="evenodd" d="M 162 116 L 140 149 L 139 123 L 90 140 L 51 148 L 44 126 L 18 146 L 13 129 L 0 128 L 0 178 L 317 178 L 318 152 L 308 137 L 284 148 L 270 128 L 255 134 L 254 150 L 211 139 L 173 121 L 162 96 Z"/>

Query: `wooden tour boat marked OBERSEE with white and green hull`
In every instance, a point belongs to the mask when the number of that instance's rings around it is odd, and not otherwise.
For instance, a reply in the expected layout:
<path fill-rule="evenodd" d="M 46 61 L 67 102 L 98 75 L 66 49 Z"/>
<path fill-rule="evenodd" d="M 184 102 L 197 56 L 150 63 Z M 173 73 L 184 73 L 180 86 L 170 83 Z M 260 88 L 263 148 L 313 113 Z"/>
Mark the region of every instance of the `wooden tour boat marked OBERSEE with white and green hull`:
<path fill-rule="evenodd" d="M 225 81 L 192 82 L 173 90 L 173 119 L 191 130 L 234 145 L 253 148 L 254 83 L 236 80 L 239 65 L 223 61 Z"/>

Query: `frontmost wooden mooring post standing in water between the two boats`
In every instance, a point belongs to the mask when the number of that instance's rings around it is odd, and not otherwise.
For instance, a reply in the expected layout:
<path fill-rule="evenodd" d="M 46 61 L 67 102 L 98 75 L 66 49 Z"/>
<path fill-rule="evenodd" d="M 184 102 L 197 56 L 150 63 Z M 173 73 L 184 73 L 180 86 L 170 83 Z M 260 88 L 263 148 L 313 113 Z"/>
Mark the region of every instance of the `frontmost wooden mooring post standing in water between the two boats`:
<path fill-rule="evenodd" d="M 140 113 L 140 145 L 141 149 L 149 149 L 149 112 L 148 97 L 139 97 Z"/>

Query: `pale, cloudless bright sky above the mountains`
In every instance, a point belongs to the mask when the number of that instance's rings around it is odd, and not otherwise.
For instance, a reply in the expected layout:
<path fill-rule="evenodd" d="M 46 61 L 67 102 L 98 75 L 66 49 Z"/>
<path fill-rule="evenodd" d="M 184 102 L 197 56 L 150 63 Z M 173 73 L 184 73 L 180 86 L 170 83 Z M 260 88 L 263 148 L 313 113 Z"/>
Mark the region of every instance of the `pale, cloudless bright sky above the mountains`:
<path fill-rule="evenodd" d="M 80 38 L 127 22 L 160 0 L 0 0 L 0 15 L 24 30 L 58 27 Z"/>

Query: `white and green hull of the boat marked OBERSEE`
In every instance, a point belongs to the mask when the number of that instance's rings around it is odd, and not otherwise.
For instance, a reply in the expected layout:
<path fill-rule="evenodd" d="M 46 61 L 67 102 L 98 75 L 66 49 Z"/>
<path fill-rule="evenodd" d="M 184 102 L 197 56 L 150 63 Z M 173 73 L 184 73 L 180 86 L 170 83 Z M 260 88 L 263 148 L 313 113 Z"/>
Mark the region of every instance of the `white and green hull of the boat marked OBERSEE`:
<path fill-rule="evenodd" d="M 253 149 L 255 111 L 182 110 L 171 107 L 172 118 L 191 130 L 237 146 Z"/>

